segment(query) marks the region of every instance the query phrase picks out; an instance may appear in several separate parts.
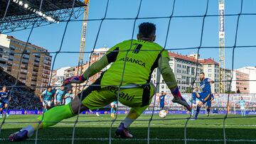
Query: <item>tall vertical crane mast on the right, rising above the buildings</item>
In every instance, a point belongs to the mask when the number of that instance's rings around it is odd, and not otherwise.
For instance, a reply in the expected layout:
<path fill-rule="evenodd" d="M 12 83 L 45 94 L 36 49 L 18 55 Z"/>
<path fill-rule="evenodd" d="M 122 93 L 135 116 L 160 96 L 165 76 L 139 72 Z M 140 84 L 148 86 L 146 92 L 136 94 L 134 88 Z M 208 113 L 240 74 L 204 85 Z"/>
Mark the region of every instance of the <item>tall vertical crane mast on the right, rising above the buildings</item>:
<path fill-rule="evenodd" d="M 225 93 L 225 0 L 219 0 L 219 72 L 219 92 Z"/>

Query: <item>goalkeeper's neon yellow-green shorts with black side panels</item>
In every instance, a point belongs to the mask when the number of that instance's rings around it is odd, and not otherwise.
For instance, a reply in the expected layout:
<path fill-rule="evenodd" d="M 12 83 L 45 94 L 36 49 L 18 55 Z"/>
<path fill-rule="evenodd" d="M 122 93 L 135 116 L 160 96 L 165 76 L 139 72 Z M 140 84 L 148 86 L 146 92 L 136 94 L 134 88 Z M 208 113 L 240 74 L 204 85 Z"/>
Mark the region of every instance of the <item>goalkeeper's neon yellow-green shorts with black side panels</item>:
<path fill-rule="evenodd" d="M 82 104 L 89 109 L 99 109 L 103 106 L 107 106 L 112 101 L 117 101 L 119 94 L 119 102 L 125 106 L 129 106 L 137 113 L 141 114 L 151 103 L 151 99 L 154 96 L 154 85 L 148 84 L 147 87 L 136 87 L 129 89 L 119 89 L 118 87 L 100 87 L 100 79 L 87 87 L 78 96 L 80 97 Z"/>

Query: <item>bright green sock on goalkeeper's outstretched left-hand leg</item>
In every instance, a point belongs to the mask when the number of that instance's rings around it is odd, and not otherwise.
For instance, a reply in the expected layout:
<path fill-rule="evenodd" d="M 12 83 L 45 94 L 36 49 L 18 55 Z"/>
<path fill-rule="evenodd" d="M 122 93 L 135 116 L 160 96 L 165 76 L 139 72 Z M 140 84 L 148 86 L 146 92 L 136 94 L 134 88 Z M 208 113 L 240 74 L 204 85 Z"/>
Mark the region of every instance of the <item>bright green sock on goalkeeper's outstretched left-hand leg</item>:
<path fill-rule="evenodd" d="M 68 105 L 53 107 L 53 109 L 50 109 L 49 111 L 46 111 L 46 113 L 43 113 L 42 116 L 39 116 L 38 120 L 42 121 L 43 128 L 46 128 L 48 126 L 53 126 L 57 124 L 58 122 L 62 121 L 65 118 L 70 118 L 75 115 L 76 114 L 73 113 L 71 109 L 71 103 L 70 103 Z"/>

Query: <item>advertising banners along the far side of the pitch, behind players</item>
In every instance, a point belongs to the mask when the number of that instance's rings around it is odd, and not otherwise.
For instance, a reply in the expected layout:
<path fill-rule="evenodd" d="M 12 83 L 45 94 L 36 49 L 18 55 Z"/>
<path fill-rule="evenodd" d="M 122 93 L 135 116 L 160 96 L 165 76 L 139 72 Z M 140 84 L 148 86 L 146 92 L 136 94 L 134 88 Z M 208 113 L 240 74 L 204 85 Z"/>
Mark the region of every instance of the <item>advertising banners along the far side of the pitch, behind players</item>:
<path fill-rule="evenodd" d="M 151 101 L 151 104 L 149 105 L 149 109 L 146 109 L 147 111 L 144 111 L 146 114 L 152 113 L 153 107 L 155 107 L 155 110 L 159 110 L 159 96 L 161 94 L 156 94 Z M 191 94 L 182 94 L 183 98 L 187 101 L 191 101 Z M 214 100 L 212 101 L 212 107 L 218 109 L 218 113 L 226 113 L 227 111 L 227 103 L 228 103 L 228 96 L 230 97 L 229 106 L 230 106 L 230 113 L 240 113 L 240 105 L 239 100 L 241 97 L 245 100 L 245 109 L 247 114 L 253 114 L 256 115 L 256 94 L 213 94 Z M 179 104 L 174 104 L 171 99 L 174 97 L 172 94 L 166 94 L 164 105 L 169 110 L 169 113 L 174 114 L 184 114 L 186 113 L 186 110 L 182 108 Z M 110 106 L 106 107 L 110 108 Z M 203 107 L 204 109 L 204 107 Z M 205 113 L 203 111 L 202 113 Z M 99 111 L 102 114 L 109 114 L 110 111 Z M 127 106 L 124 106 L 119 103 L 119 111 L 118 113 L 128 113 L 129 109 Z M 11 115 L 16 114 L 42 114 L 43 111 L 37 111 L 37 110 L 9 110 L 9 113 Z M 82 114 L 92 114 L 96 113 L 96 111 L 82 111 Z M 159 111 L 154 111 L 154 113 L 159 113 Z"/>

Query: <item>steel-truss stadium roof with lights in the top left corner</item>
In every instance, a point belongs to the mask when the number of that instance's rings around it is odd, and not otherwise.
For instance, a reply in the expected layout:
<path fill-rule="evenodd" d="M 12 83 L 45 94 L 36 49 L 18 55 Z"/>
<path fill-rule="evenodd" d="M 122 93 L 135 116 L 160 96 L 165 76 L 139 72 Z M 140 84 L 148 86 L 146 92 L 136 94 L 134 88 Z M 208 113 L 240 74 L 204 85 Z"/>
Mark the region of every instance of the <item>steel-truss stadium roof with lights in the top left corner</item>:
<path fill-rule="evenodd" d="M 9 7 L 4 18 L 4 13 L 8 6 L 8 1 L 0 0 L 0 33 L 9 33 L 26 28 L 58 23 L 68 20 L 74 0 L 43 0 L 41 11 L 41 0 L 10 0 Z M 76 19 L 82 15 L 85 4 L 75 0 L 71 19 Z"/>

